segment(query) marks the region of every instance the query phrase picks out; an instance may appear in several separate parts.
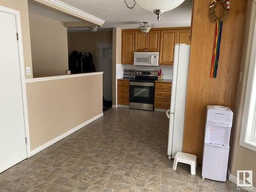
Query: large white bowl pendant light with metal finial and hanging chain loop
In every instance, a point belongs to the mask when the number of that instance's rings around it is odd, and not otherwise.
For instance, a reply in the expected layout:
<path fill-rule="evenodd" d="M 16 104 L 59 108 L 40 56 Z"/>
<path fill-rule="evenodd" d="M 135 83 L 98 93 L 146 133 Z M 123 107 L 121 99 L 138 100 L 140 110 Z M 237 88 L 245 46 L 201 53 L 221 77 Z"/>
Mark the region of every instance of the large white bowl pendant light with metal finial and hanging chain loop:
<path fill-rule="evenodd" d="M 175 9 L 181 5 L 185 0 L 134 0 L 133 6 L 129 6 L 126 1 L 124 3 L 127 8 L 133 9 L 138 4 L 143 9 L 153 11 L 157 15 L 157 19 L 160 20 L 161 15 L 172 9 Z"/>

